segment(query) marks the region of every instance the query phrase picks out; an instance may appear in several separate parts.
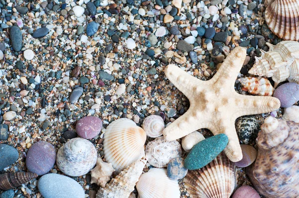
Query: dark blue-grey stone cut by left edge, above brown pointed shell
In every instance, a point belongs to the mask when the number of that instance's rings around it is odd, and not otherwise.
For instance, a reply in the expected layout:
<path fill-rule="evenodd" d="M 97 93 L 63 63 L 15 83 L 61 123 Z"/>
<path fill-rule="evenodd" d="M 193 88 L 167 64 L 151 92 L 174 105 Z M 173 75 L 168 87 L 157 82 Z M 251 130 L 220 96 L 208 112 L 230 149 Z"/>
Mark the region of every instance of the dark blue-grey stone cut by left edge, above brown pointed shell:
<path fill-rule="evenodd" d="M 0 171 L 13 164 L 18 158 L 18 152 L 12 146 L 0 144 Z"/>

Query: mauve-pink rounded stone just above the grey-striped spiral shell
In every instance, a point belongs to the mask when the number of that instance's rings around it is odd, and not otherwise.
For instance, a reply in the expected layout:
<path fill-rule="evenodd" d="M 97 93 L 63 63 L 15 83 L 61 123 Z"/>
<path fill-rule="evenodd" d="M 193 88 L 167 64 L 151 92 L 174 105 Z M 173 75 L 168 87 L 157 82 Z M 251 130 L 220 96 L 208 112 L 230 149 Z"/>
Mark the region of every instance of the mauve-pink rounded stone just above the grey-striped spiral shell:
<path fill-rule="evenodd" d="M 99 135 L 102 130 L 103 122 L 95 116 L 81 118 L 76 124 L 76 132 L 80 137 L 92 139 Z"/>

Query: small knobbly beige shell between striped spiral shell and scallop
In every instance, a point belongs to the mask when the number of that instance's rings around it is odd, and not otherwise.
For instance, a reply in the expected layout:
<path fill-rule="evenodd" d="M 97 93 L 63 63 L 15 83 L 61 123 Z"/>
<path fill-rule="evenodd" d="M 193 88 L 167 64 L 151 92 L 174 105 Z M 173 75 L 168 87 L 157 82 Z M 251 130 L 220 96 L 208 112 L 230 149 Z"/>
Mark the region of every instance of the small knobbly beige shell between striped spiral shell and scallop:
<path fill-rule="evenodd" d="M 102 158 L 98 158 L 97 166 L 91 172 L 91 184 L 96 183 L 98 186 L 105 188 L 115 169 L 111 163 L 103 162 Z"/>

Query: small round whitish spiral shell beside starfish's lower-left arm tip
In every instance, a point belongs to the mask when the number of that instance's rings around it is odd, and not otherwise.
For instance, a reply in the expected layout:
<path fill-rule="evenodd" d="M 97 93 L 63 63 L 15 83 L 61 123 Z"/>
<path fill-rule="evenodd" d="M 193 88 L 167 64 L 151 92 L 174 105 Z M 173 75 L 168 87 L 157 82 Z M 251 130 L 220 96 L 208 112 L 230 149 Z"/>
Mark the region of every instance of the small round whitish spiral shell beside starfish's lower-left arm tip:
<path fill-rule="evenodd" d="M 159 137 L 164 130 L 163 118 L 159 115 L 149 115 L 145 118 L 142 128 L 146 131 L 149 137 Z"/>

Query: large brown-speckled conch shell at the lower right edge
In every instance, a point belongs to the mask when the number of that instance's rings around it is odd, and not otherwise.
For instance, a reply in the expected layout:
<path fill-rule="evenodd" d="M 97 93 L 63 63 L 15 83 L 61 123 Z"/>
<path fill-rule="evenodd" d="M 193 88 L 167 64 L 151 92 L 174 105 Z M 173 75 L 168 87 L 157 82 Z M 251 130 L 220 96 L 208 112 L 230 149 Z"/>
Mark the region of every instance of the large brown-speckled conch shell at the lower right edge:
<path fill-rule="evenodd" d="M 256 141 L 258 156 L 247 168 L 256 190 L 267 198 L 298 198 L 299 124 L 269 116 Z"/>

